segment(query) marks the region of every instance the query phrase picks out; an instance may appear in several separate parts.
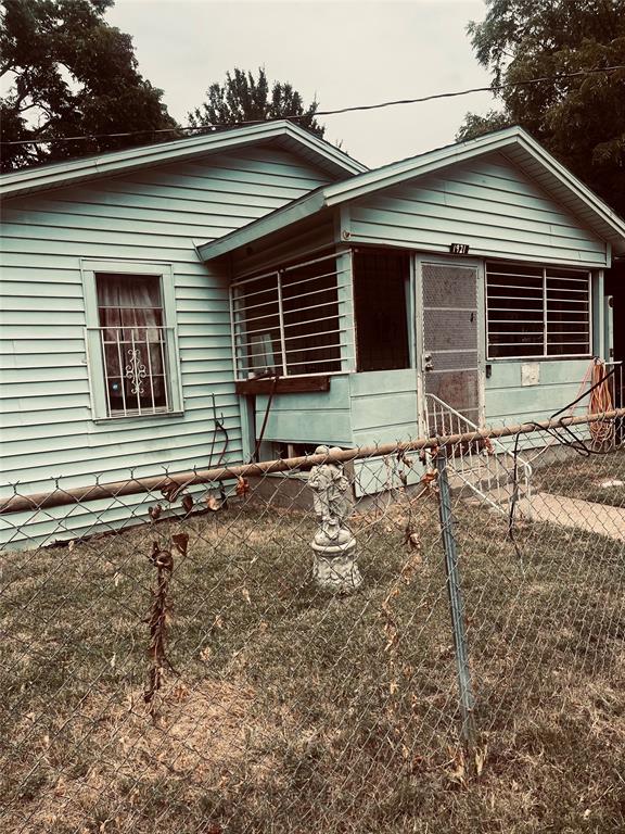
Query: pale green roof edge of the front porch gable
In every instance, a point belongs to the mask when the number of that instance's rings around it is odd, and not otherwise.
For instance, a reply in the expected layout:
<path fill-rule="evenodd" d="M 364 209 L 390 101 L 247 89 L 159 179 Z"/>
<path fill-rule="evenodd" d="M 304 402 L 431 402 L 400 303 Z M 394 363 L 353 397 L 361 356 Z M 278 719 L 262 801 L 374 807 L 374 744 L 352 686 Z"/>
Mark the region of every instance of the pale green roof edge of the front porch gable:
<path fill-rule="evenodd" d="M 493 152 L 502 153 L 598 237 L 610 242 L 616 253 L 625 252 L 625 222 L 521 127 L 449 144 L 318 188 L 238 231 L 199 247 L 197 251 L 204 261 L 211 261 L 326 208 Z"/>

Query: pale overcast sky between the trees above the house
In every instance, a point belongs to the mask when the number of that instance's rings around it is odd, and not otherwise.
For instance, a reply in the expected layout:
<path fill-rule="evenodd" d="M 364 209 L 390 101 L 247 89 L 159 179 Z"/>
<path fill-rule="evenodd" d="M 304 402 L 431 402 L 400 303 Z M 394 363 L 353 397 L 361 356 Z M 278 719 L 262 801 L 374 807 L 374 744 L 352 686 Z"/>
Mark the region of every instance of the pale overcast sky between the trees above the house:
<path fill-rule="evenodd" d="M 107 21 L 133 38 L 140 72 L 181 124 L 214 81 L 265 66 L 320 109 L 487 86 L 467 23 L 482 0 L 116 0 Z M 326 138 L 369 166 L 448 144 L 489 93 L 324 116 Z"/>

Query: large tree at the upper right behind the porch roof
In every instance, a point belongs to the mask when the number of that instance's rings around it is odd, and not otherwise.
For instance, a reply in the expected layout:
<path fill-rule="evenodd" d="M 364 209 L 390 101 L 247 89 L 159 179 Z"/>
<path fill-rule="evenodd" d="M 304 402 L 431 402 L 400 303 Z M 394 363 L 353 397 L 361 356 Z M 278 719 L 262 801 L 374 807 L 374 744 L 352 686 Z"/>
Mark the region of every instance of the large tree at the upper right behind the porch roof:
<path fill-rule="evenodd" d="M 486 2 L 484 22 L 468 28 L 503 110 L 468 113 L 458 139 L 519 124 L 625 214 L 625 70 L 563 77 L 625 65 L 625 0 Z"/>

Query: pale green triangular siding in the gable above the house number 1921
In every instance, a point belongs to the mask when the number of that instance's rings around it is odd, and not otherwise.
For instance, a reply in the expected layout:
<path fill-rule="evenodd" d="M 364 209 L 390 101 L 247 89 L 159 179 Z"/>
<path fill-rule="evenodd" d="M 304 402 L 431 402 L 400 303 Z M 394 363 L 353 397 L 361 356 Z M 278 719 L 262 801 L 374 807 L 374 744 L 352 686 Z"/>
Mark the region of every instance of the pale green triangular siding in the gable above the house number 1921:
<path fill-rule="evenodd" d="M 607 264 L 605 243 L 500 154 L 355 201 L 354 242 L 545 263 Z"/>

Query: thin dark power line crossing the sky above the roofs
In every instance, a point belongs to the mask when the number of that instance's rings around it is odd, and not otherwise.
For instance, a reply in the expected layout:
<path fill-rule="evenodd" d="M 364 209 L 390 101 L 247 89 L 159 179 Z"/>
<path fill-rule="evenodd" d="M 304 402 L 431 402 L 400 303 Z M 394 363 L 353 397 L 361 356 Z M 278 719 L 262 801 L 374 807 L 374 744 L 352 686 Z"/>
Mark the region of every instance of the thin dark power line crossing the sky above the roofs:
<path fill-rule="evenodd" d="M 368 110 L 382 110 L 383 108 L 394 108 L 394 106 L 397 106 L 398 104 L 422 104 L 426 101 L 436 101 L 438 99 L 454 99 L 460 96 L 469 96 L 473 92 L 498 92 L 500 90 L 510 89 L 512 87 L 526 87 L 526 86 L 536 85 L 536 84 L 556 84 L 560 80 L 564 80 L 569 78 L 585 78 L 591 75 L 598 75 L 600 73 L 614 73 L 618 70 L 625 70 L 625 64 L 618 64 L 615 66 L 596 67 L 592 70 L 579 70 L 574 73 L 559 73 L 558 75 L 552 75 L 552 76 L 541 76 L 539 78 L 527 78 L 526 80 L 523 80 L 523 81 L 505 81 L 503 84 L 494 84 L 494 85 L 489 85 L 488 87 L 471 87 L 465 90 L 454 90 L 450 92 L 436 92 L 436 93 L 432 93 L 431 96 L 421 96 L 420 98 L 417 98 L 417 99 L 396 99 L 394 101 L 378 102 L 377 104 L 355 104 L 354 106 L 339 108 L 336 110 L 318 110 L 312 115 L 316 118 L 317 116 L 335 116 L 342 113 L 356 113 L 356 112 L 368 111 Z M 115 132 L 115 134 L 81 134 L 79 136 L 65 136 L 65 137 L 55 137 L 55 138 L 49 138 L 49 139 L 15 139 L 9 142 L 0 142 L 0 146 L 51 144 L 53 142 L 77 142 L 77 141 L 89 140 L 89 139 L 91 140 L 120 139 L 129 136 L 144 136 L 145 134 L 155 136 L 156 134 L 176 134 L 180 131 L 202 132 L 203 130 L 211 129 L 211 128 L 226 129 L 226 128 L 232 128 L 232 127 L 243 127 L 245 125 L 271 124 L 271 122 L 283 122 L 283 121 L 296 122 L 302 118 L 309 118 L 309 116 L 310 114 L 298 113 L 293 115 L 280 116 L 279 118 L 243 119 L 241 122 L 233 122 L 229 125 L 206 124 L 197 127 L 193 127 L 191 125 L 178 126 L 178 127 L 160 127 L 160 128 L 148 127 L 144 130 L 127 130 L 127 131 Z"/>

